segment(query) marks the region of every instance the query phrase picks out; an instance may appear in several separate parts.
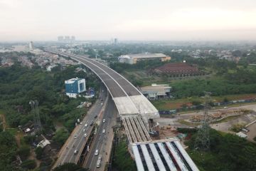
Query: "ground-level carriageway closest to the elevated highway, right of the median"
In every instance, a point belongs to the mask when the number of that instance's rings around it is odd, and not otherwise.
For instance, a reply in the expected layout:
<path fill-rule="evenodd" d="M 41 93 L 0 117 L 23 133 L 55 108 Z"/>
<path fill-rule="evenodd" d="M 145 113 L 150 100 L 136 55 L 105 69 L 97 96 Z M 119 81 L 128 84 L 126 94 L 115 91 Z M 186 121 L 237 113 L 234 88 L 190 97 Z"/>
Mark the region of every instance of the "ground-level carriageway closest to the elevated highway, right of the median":
<path fill-rule="evenodd" d="M 90 168 L 90 170 L 104 170 L 105 163 L 108 161 L 107 156 L 110 155 L 110 147 L 112 144 L 113 131 L 112 126 L 115 125 L 117 118 L 117 110 L 114 106 L 114 102 L 109 100 L 106 104 L 105 112 L 102 115 L 102 119 L 105 119 L 105 122 L 101 121 L 99 128 L 97 129 L 97 134 L 93 146 L 90 148 L 90 152 L 87 156 L 87 160 L 84 163 L 83 167 Z M 105 133 L 103 132 L 105 130 Z M 99 154 L 95 155 L 95 151 L 98 150 Z M 102 162 L 100 168 L 96 167 L 97 158 L 99 155 L 102 155 Z"/>

